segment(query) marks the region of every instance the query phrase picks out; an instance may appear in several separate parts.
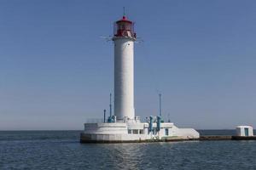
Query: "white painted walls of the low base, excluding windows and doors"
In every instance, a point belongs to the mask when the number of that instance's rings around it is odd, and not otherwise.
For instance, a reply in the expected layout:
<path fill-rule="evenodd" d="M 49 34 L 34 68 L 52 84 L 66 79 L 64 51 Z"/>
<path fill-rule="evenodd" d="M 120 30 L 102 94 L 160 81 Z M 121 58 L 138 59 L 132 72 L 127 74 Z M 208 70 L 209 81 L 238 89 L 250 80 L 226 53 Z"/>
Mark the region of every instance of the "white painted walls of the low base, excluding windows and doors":
<path fill-rule="evenodd" d="M 156 127 L 156 123 L 153 123 Z M 169 129 L 169 135 L 166 136 L 166 128 Z M 143 129 L 143 134 L 128 133 L 128 129 Z M 113 123 L 84 123 L 84 136 L 90 140 L 106 141 L 132 141 L 146 139 L 162 139 L 163 137 L 177 137 L 177 139 L 198 139 L 199 133 L 193 128 L 177 128 L 171 122 L 161 123 L 160 132 L 154 135 L 148 133 L 148 122 L 113 122 Z"/>

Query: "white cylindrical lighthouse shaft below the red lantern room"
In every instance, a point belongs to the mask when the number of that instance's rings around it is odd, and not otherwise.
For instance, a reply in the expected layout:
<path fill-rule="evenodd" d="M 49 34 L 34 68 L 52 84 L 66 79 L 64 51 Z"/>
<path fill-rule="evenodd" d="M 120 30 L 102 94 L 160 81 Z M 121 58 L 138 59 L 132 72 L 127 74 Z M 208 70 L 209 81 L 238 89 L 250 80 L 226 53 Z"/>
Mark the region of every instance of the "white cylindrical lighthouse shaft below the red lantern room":
<path fill-rule="evenodd" d="M 134 119 L 134 39 L 113 37 L 114 42 L 114 115 Z"/>

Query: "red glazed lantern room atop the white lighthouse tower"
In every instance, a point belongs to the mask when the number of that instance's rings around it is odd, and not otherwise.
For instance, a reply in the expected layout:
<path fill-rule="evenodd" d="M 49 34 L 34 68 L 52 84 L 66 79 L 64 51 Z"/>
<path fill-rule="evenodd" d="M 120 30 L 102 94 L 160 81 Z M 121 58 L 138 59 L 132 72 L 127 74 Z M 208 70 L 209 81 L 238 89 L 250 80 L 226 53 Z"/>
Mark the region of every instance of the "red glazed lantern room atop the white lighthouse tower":
<path fill-rule="evenodd" d="M 134 22 L 127 20 L 124 15 L 121 20 L 118 20 L 114 23 L 113 35 L 114 37 L 136 38 L 136 33 L 134 32 Z"/>

